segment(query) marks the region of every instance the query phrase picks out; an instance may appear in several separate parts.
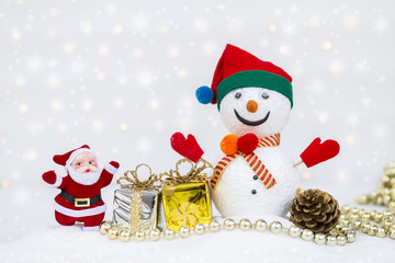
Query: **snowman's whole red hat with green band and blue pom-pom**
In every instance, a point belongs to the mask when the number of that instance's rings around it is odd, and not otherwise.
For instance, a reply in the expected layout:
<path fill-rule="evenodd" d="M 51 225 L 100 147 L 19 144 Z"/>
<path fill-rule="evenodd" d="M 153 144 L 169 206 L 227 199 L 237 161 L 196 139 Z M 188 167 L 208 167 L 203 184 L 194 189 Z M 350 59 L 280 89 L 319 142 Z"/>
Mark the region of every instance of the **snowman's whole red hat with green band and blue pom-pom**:
<path fill-rule="evenodd" d="M 263 61 L 241 48 L 226 45 L 214 72 L 211 89 L 196 90 L 196 99 L 203 104 L 217 103 L 230 91 L 246 87 L 260 87 L 286 96 L 293 106 L 292 78 L 282 68 Z"/>

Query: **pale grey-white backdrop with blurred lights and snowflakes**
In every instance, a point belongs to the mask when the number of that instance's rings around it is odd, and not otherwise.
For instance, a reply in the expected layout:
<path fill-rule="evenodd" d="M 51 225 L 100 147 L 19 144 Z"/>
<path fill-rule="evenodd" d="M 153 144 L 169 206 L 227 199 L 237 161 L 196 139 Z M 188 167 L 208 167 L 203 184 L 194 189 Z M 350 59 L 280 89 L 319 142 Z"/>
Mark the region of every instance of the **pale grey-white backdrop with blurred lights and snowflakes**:
<path fill-rule="evenodd" d="M 216 158 L 227 130 L 194 91 L 227 43 L 293 77 L 282 145 L 297 160 L 316 136 L 338 140 L 336 159 L 300 171 L 304 187 L 352 203 L 395 159 L 394 11 L 390 0 L 1 1 L 0 242 L 56 225 L 58 191 L 41 179 L 64 172 L 55 153 L 88 144 L 102 165 L 162 172 L 182 132 Z M 103 191 L 108 218 L 115 188 Z"/>

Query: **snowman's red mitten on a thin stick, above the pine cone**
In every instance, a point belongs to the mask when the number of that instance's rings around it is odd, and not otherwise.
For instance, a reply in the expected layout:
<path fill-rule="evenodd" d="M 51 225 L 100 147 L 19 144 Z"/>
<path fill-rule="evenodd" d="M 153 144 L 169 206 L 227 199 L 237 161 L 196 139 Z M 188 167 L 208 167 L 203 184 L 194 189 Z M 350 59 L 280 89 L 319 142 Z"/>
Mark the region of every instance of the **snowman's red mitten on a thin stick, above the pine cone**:
<path fill-rule="evenodd" d="M 320 162 L 327 161 L 336 157 L 340 151 L 340 145 L 336 140 L 325 140 L 321 142 L 320 138 L 315 138 L 309 146 L 302 152 L 302 161 L 294 164 L 297 167 L 303 162 L 307 168 L 314 167 Z"/>

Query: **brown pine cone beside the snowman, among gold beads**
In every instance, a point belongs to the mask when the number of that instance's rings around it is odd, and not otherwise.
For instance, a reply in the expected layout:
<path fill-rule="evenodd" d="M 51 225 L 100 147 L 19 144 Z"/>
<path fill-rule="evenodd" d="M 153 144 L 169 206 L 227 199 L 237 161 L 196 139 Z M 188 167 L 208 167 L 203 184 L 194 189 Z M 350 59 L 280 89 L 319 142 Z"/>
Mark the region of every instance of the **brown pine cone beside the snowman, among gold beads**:
<path fill-rule="evenodd" d="M 293 224 L 316 233 L 328 233 L 340 217 L 337 199 L 320 190 L 306 190 L 297 194 L 290 213 Z"/>

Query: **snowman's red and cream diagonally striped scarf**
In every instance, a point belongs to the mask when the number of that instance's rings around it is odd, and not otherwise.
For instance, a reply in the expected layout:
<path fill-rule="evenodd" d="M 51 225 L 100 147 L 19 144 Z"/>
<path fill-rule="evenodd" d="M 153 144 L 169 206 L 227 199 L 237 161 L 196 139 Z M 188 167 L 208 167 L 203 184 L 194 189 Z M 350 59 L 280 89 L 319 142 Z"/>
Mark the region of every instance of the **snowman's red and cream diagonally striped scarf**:
<path fill-rule="evenodd" d="M 258 141 L 258 148 L 262 147 L 275 147 L 280 145 L 280 134 L 264 137 Z M 233 162 L 237 157 L 242 157 L 251 170 L 257 174 L 258 179 L 263 183 L 268 190 L 276 184 L 275 179 L 271 175 L 266 165 L 259 160 L 258 156 L 253 152 L 242 153 L 237 151 L 235 155 L 224 157 L 214 169 L 214 176 L 211 180 L 213 190 L 225 169 Z"/>

